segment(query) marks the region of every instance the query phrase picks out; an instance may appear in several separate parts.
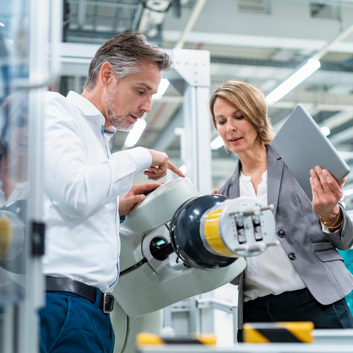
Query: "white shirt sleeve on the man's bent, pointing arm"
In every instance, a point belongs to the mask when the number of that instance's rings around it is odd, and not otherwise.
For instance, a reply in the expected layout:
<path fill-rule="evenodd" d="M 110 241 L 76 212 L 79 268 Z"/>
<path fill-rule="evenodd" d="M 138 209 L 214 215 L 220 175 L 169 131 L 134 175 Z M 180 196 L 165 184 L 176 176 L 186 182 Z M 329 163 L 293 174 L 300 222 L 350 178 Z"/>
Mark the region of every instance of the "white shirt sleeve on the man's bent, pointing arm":
<path fill-rule="evenodd" d="M 86 217 L 129 190 L 133 177 L 150 167 L 152 156 L 137 147 L 89 165 L 78 118 L 71 109 L 59 95 L 46 101 L 45 187 L 64 214 Z"/>

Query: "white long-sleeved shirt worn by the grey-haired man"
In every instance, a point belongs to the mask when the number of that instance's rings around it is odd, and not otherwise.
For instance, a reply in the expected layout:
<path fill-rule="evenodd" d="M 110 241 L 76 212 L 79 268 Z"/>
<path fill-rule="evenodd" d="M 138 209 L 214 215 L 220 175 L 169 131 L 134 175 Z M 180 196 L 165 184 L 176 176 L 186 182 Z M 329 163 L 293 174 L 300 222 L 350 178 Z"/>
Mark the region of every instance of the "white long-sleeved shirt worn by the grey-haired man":
<path fill-rule="evenodd" d="M 119 276 L 119 194 L 150 167 L 137 147 L 110 154 L 104 116 L 83 96 L 46 92 L 44 273 L 112 292 Z"/>

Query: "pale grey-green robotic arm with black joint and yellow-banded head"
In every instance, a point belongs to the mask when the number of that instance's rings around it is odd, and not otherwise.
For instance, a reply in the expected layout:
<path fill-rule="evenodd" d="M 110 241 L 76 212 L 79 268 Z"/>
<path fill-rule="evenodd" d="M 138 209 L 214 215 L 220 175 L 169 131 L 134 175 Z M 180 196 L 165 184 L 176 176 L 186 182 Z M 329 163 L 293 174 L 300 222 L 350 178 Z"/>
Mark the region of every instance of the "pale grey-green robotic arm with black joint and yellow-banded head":
<path fill-rule="evenodd" d="M 200 196 L 187 178 L 147 195 L 119 233 L 114 353 L 130 352 L 138 331 L 157 332 L 158 310 L 230 282 L 244 270 L 244 256 L 277 244 L 271 206 L 251 197 Z"/>

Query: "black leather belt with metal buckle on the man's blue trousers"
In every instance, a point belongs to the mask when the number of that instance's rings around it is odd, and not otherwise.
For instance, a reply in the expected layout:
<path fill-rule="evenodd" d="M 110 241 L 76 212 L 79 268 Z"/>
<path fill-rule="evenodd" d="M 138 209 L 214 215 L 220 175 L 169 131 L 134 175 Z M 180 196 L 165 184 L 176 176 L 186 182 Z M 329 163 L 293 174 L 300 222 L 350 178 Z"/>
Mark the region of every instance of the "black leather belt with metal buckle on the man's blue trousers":
<path fill-rule="evenodd" d="M 46 276 L 47 292 L 68 292 L 77 294 L 80 297 L 88 299 L 93 304 L 96 302 L 97 289 L 86 285 L 85 283 L 71 280 L 69 278 Z M 101 293 L 99 300 L 100 309 L 108 313 L 113 310 L 114 297 L 110 293 Z"/>

